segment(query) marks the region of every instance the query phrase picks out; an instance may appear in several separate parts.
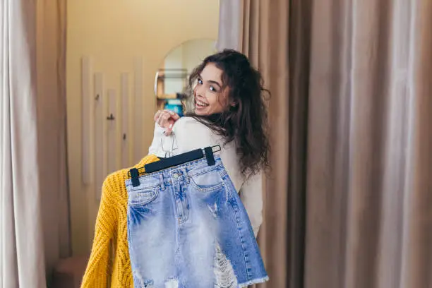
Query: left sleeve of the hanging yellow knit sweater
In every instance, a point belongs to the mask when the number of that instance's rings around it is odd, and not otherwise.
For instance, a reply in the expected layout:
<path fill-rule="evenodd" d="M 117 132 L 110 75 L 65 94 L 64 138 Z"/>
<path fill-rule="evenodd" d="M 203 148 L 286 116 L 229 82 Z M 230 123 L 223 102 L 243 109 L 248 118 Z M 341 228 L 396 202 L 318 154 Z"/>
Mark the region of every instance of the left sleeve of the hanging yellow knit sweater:
<path fill-rule="evenodd" d="M 111 240 L 116 227 L 116 209 L 110 197 L 112 188 L 107 179 L 102 185 L 102 198 L 97 212 L 92 252 L 85 270 L 81 288 L 106 288 L 112 276 Z"/>

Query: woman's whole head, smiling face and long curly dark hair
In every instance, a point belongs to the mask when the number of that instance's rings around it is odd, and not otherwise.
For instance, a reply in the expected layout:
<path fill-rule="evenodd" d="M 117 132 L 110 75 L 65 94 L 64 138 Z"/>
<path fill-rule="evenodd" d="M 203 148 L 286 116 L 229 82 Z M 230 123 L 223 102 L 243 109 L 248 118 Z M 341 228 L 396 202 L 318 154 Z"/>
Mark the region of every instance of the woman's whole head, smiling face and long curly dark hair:
<path fill-rule="evenodd" d="M 264 88 L 260 71 L 246 55 L 224 49 L 205 57 L 189 76 L 187 95 L 191 95 L 190 102 L 195 100 L 194 112 L 189 115 L 227 143 L 234 141 L 241 153 L 242 176 L 270 167 L 265 99 L 270 91 Z"/>

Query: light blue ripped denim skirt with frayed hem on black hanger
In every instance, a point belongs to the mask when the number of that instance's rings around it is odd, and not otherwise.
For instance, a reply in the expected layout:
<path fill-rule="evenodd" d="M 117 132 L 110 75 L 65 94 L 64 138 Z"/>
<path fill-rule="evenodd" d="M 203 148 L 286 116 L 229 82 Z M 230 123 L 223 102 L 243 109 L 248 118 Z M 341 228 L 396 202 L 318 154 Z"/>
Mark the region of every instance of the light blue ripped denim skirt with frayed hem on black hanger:
<path fill-rule="evenodd" d="M 219 157 L 126 180 L 136 288 L 236 288 L 268 280 L 251 223 Z"/>

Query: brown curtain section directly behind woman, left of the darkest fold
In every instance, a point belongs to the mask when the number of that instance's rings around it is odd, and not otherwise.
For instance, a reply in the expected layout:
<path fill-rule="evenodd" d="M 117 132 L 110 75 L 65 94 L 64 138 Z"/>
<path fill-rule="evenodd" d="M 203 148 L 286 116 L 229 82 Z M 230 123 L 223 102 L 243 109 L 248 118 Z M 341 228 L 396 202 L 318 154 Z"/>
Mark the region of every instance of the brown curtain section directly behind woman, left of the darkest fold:
<path fill-rule="evenodd" d="M 239 11 L 235 19 L 223 22 L 227 15 L 224 11 Z M 264 193 L 264 223 L 258 234 L 258 244 L 263 255 L 265 266 L 270 276 L 270 282 L 259 284 L 258 287 L 286 287 L 287 283 L 287 254 L 295 258 L 296 249 L 301 245 L 301 232 L 288 234 L 288 227 L 302 229 L 294 219 L 303 210 L 296 209 L 302 201 L 301 194 L 287 193 L 289 181 L 288 167 L 297 165 L 297 159 L 290 158 L 289 150 L 302 149 L 298 145 L 290 146 L 290 138 L 295 138 L 296 144 L 302 139 L 292 133 L 287 133 L 294 123 L 302 121 L 296 114 L 296 119 L 287 113 L 291 101 L 289 98 L 289 3 L 288 1 L 253 1 L 253 0 L 221 0 L 220 1 L 220 41 L 219 49 L 237 47 L 246 54 L 253 66 L 263 75 L 265 87 L 271 92 L 269 111 L 270 141 L 272 154 L 270 161 L 272 171 L 265 179 Z M 231 14 L 230 14 L 231 15 Z M 236 21 L 234 21 L 236 20 Z M 238 25 L 238 26 L 236 26 Z M 223 35 L 231 35 L 232 31 L 239 31 L 236 39 Z M 222 38 L 221 38 L 222 36 Z M 300 117 L 299 117 L 300 116 Z M 301 151 L 296 154 L 303 157 Z M 296 169 L 296 167 L 294 168 Z M 298 185 L 295 182 L 291 185 Z M 292 207 L 293 209 L 289 209 Z M 287 211 L 290 211 L 288 215 Z M 292 237 L 291 246 L 287 246 L 287 237 Z M 301 242 L 301 241 L 300 241 Z M 301 269 L 296 263 L 290 266 L 292 271 Z M 296 280 L 293 280 L 296 281 Z"/>

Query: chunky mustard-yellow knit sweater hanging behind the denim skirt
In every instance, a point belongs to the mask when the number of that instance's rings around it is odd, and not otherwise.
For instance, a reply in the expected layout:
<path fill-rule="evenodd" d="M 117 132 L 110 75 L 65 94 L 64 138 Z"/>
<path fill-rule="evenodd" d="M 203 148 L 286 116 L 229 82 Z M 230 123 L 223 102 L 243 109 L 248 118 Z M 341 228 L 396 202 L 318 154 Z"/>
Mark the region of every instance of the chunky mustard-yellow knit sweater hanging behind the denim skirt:
<path fill-rule="evenodd" d="M 135 168 L 157 160 L 155 155 L 148 155 Z M 92 253 L 81 288 L 133 287 L 126 222 L 128 193 L 124 183 L 128 171 L 122 169 L 110 174 L 102 185 Z"/>

